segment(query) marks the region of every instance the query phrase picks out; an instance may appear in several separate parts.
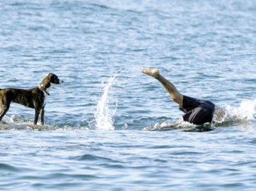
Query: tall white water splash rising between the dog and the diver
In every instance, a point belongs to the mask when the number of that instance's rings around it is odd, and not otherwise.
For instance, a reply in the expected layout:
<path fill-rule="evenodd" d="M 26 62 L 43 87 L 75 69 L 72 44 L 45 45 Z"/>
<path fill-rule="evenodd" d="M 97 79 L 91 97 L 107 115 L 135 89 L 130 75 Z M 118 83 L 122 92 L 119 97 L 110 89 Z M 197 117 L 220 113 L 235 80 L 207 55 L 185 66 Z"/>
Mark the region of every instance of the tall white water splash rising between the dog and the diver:
<path fill-rule="evenodd" d="M 115 115 L 117 111 L 117 99 L 115 100 L 115 104 L 110 106 L 110 90 L 112 86 L 115 84 L 115 78 L 122 74 L 123 70 L 118 70 L 113 77 L 107 81 L 107 84 L 103 81 L 103 95 L 101 99 L 98 101 L 97 111 L 94 114 L 95 121 L 96 121 L 96 128 L 98 130 L 114 130 L 115 127 L 113 126 L 113 118 L 112 116 Z"/>

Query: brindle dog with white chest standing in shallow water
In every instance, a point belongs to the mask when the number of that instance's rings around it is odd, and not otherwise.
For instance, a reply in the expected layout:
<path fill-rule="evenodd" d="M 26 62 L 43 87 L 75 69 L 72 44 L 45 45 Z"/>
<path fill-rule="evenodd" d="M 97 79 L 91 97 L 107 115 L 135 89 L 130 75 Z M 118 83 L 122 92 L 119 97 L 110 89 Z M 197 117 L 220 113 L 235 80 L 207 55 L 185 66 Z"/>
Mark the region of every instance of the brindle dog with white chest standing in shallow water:
<path fill-rule="evenodd" d="M 42 80 L 40 85 L 30 90 L 23 89 L 0 89 L 0 121 L 7 113 L 10 108 L 11 102 L 22 104 L 29 108 L 35 109 L 35 120 L 34 125 L 37 124 L 38 116 L 41 116 L 41 124 L 44 124 L 45 115 L 45 104 L 47 97 L 50 95 L 49 91 L 54 85 L 61 85 L 62 80 L 59 80 L 57 75 L 54 73 L 49 73 Z"/>

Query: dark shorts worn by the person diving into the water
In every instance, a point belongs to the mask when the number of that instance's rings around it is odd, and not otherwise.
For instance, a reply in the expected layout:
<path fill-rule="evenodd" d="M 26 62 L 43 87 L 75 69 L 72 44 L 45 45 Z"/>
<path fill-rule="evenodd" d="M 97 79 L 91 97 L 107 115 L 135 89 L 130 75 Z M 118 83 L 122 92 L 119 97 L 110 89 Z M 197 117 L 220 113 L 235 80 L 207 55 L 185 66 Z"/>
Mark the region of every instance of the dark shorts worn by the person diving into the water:
<path fill-rule="evenodd" d="M 187 96 L 183 96 L 183 105 L 180 106 L 180 110 L 185 113 L 183 115 L 184 121 L 194 125 L 211 123 L 214 117 L 214 109 L 215 105 L 211 101 Z"/>

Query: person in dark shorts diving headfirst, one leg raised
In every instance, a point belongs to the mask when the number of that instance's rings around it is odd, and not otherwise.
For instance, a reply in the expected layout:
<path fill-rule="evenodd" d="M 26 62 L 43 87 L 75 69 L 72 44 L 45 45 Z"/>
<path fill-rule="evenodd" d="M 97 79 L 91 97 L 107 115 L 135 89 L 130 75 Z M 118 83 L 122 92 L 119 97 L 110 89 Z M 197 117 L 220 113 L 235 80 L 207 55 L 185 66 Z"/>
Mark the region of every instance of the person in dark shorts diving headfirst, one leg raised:
<path fill-rule="evenodd" d="M 180 92 L 176 90 L 173 83 L 169 82 L 159 74 L 158 69 L 144 68 L 141 70 L 141 73 L 150 75 L 161 82 L 163 87 L 165 87 L 165 90 L 167 90 L 167 92 L 170 94 L 173 101 L 179 104 L 180 110 L 185 113 L 180 121 L 167 125 L 161 125 L 161 128 L 177 126 L 184 121 L 193 123 L 194 125 L 203 125 L 204 123 L 223 123 L 233 119 L 233 117 L 228 115 L 225 110 L 221 109 L 219 106 L 216 106 L 211 101 L 194 99 L 192 97 L 187 97 L 180 94 Z"/>

